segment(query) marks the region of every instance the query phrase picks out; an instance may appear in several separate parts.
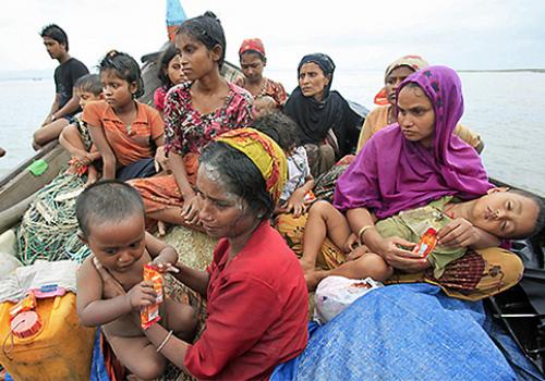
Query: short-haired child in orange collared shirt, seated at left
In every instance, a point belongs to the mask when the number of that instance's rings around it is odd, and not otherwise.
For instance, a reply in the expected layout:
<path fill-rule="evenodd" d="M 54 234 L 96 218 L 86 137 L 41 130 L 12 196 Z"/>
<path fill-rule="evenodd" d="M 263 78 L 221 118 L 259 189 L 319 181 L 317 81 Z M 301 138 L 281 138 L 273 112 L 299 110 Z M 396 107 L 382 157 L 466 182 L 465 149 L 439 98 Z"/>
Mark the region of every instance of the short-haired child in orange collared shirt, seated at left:
<path fill-rule="evenodd" d="M 106 102 L 87 105 L 83 121 L 102 157 L 102 179 L 149 177 L 165 165 L 165 125 L 157 110 L 135 100 L 144 93 L 140 66 L 112 50 L 99 71 Z"/>

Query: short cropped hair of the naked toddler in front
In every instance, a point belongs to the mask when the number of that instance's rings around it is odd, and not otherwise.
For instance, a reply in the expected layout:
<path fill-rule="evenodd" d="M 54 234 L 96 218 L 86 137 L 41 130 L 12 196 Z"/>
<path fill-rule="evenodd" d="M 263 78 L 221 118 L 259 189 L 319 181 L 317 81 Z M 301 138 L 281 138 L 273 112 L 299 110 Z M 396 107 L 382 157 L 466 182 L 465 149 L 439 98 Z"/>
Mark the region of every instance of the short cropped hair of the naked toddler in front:
<path fill-rule="evenodd" d="M 88 237 L 93 224 L 120 222 L 135 214 L 144 216 L 138 192 L 119 180 L 99 181 L 88 186 L 75 202 L 80 230 Z"/>

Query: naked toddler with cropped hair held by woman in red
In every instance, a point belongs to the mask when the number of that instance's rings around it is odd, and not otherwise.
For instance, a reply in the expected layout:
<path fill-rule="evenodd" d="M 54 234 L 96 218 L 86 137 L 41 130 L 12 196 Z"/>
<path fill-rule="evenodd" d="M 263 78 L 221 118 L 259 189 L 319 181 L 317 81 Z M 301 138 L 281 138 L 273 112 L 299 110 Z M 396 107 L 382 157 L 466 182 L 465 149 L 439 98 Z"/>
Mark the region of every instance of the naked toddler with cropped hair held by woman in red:
<path fill-rule="evenodd" d="M 102 332 L 118 359 L 138 378 L 155 379 L 166 366 L 135 322 L 141 307 L 149 306 L 156 295 L 146 293 L 143 268 L 153 259 L 160 269 L 178 260 L 173 247 L 146 233 L 144 205 L 138 193 L 119 181 L 90 185 L 77 198 L 76 216 L 82 239 L 93 251 L 77 273 L 77 315 L 84 325 L 102 325 Z M 104 298 L 106 270 L 124 290 L 124 294 Z M 190 341 L 196 320 L 193 309 L 165 298 L 160 324 Z M 140 319 L 138 319 L 140 320 Z"/>

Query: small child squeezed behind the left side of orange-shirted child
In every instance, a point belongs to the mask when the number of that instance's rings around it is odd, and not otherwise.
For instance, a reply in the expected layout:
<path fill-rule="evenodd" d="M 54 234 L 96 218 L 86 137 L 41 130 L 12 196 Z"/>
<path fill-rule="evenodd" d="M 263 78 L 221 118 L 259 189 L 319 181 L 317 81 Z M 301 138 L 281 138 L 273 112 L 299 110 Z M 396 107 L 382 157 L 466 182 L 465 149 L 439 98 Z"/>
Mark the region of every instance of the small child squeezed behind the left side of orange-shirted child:
<path fill-rule="evenodd" d="M 104 100 L 102 84 L 98 74 L 86 74 L 74 84 L 74 93 L 80 98 L 80 107 L 85 109 L 89 102 Z M 65 126 L 59 143 L 72 156 L 69 171 L 83 174 L 87 171 L 87 185 L 98 180 L 98 171 L 93 165 L 100 159 L 100 153 L 93 146 L 87 125 L 81 119 L 82 113 L 74 115 L 74 123 Z"/>

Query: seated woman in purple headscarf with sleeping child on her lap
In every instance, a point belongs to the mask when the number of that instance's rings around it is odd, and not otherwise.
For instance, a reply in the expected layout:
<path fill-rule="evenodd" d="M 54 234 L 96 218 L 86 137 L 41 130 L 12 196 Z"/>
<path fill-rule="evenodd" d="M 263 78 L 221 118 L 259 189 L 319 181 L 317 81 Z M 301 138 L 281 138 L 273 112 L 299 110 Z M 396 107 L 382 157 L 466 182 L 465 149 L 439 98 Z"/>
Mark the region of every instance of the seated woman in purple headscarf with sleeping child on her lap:
<path fill-rule="evenodd" d="M 334 205 L 346 212 L 352 232 L 368 249 L 404 272 L 393 281 L 429 281 L 453 296 L 482 298 L 516 284 L 520 260 L 500 248 L 469 250 L 434 279 L 428 262 L 383 238 L 374 222 L 424 206 L 443 196 L 462 200 L 492 187 L 476 151 L 452 134 L 463 113 L 460 78 L 445 66 L 409 76 L 397 91 L 398 123 L 376 133 L 339 179 Z M 439 244 L 491 247 L 498 241 L 463 219 L 439 232 Z M 471 295 L 471 297 L 470 297 Z"/>

